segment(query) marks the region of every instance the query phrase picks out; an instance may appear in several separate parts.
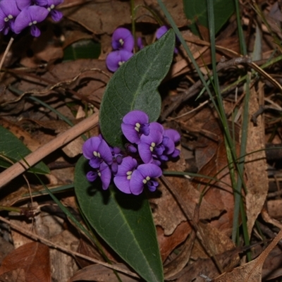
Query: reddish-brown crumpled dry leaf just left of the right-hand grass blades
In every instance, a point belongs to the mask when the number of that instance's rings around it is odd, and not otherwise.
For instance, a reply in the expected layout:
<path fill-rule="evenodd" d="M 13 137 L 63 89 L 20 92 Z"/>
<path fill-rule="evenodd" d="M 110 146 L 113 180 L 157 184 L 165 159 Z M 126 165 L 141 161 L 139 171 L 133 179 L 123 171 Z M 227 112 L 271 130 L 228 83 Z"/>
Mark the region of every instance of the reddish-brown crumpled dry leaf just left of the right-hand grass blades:
<path fill-rule="evenodd" d="M 238 142 L 238 125 L 235 128 L 235 140 Z M 204 200 L 221 210 L 223 214 L 212 221 L 212 225 L 220 231 L 231 235 L 233 222 L 234 196 L 231 186 L 231 178 L 228 169 L 228 159 L 226 157 L 226 147 L 223 141 L 222 131 L 219 122 L 212 118 L 202 128 L 202 132 L 207 136 L 203 141 L 204 147 L 197 148 L 200 151 L 200 171 L 202 176 L 217 178 L 219 181 L 209 180 L 204 177 L 197 177 L 193 180 L 195 188 L 204 190 Z M 236 144 L 238 149 L 238 143 Z"/>

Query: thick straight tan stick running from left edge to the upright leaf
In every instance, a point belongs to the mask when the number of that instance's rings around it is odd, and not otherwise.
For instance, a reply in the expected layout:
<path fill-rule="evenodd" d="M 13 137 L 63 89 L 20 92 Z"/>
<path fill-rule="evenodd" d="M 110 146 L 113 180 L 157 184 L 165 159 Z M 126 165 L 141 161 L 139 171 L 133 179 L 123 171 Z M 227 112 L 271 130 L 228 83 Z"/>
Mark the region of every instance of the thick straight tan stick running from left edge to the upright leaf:
<path fill-rule="evenodd" d="M 37 162 L 41 161 L 44 157 L 51 154 L 51 152 L 54 152 L 56 149 L 59 149 L 63 145 L 66 145 L 68 142 L 71 142 L 76 137 L 82 135 L 87 130 L 90 130 L 91 128 L 96 126 L 98 124 L 98 121 L 99 116 L 96 114 L 93 114 L 89 118 L 85 118 L 84 121 L 81 121 L 77 125 L 73 126 L 69 130 L 66 130 L 66 132 L 56 137 L 54 140 L 51 140 L 47 144 L 36 149 L 35 152 L 27 155 L 25 157 L 25 161 L 18 161 L 16 164 L 13 164 L 13 166 L 7 168 L 5 171 L 0 173 L 0 189 L 3 188 L 3 186 L 6 185 L 9 181 L 13 180 L 13 178 L 16 178 L 21 173 L 26 171 L 29 166 L 37 164 Z M 26 163 L 29 164 L 29 166 L 27 166 Z"/>

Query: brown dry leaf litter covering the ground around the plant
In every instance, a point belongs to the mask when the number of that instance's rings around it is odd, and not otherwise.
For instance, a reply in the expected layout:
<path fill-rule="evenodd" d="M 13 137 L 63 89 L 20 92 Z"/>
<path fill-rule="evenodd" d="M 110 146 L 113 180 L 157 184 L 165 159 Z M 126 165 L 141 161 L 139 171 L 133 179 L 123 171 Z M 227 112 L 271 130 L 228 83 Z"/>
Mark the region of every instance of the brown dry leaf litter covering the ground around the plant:
<path fill-rule="evenodd" d="M 157 1 L 136 1 L 135 4 L 149 7 L 164 19 Z M 166 5 L 202 67 L 202 73 L 208 74 L 212 56 L 207 28 L 197 23 L 201 34 L 193 35 L 187 29 L 188 20 L 183 12 L 182 1 L 177 4 L 167 2 Z M 281 30 L 276 28 L 281 25 L 282 18 L 279 5 L 278 1 L 266 1 L 261 6 L 262 16 L 255 13 L 247 1 L 241 3 L 250 53 L 255 49 L 255 24 L 259 25 L 264 35 L 261 42 L 262 60 L 257 61 L 259 67 L 278 57 L 277 53 L 281 52 L 281 46 L 273 43 L 275 37 L 282 37 Z M 68 126 L 54 112 L 30 98 L 41 99 L 73 123 L 80 122 L 79 109 L 82 109 L 82 118 L 93 112 L 97 114 L 111 78 L 104 61 L 105 54 L 111 50 L 109 37 L 116 27 L 131 25 L 129 1 L 66 1 L 61 5 L 61 11 L 65 16 L 61 22 L 42 24 L 44 36 L 34 39 L 25 35 L 15 42 L 1 72 L 0 124 L 32 151 L 56 139 Z M 157 27 L 158 23 L 149 10 L 140 8 L 137 12 L 137 32 L 146 44 L 154 41 Z M 228 64 L 229 60 L 240 57 L 236 28 L 235 17 L 231 17 L 216 36 L 216 60 L 225 66 L 223 71 L 219 71 L 223 88 L 236 82 L 235 86 L 223 92 L 223 99 L 226 113 L 229 114 L 228 126 L 233 130 L 236 150 L 239 152 L 245 85 L 238 79 L 246 66 L 249 66 L 249 71 L 252 68 L 247 63 Z M 81 39 L 94 39 L 101 43 L 100 58 L 63 61 L 64 49 Z M 5 40 L 1 45 L 1 56 L 4 54 Z M 273 83 L 273 79 L 281 82 L 277 75 L 281 66 L 279 62 L 271 63 L 264 71 L 272 80 L 262 75 L 261 71 L 261 76 L 252 76 L 250 89 L 247 163 L 243 175 L 247 187 L 246 194 L 243 194 L 243 206 L 250 235 L 250 246 L 246 247 L 242 245 L 242 238 L 238 245 L 231 240 L 234 200 L 219 117 L 205 92 L 200 99 L 195 99 L 201 91 L 200 83 L 194 92 L 190 91 L 199 77 L 183 47 L 174 58 L 171 74 L 166 77 L 164 87 L 160 87 L 164 125 L 173 120 L 174 126 L 182 133 L 180 159 L 168 163 L 166 168 L 168 174 L 165 177 L 171 183 L 173 192 L 162 182 L 150 199 L 167 280 L 209 281 L 210 278 L 214 281 L 278 281 L 275 279 L 282 276 L 281 259 L 278 259 L 281 250 L 276 246 L 281 233 L 278 233 L 279 225 L 275 226 L 275 220 L 282 218 L 279 212 L 281 160 L 268 158 L 264 152 L 269 144 L 281 145 L 281 97 Z M 263 114 L 258 114 L 260 106 L 264 109 Z M 85 134 L 89 137 L 97 134 L 98 130 L 96 127 Z M 81 144 L 82 138 L 78 137 L 71 146 L 56 149 L 44 158 L 44 163 L 51 168 L 50 175 L 44 176 L 44 182 L 50 188 L 73 183 L 73 167 L 81 153 Z M 174 176 L 173 171 L 186 171 L 190 173 L 190 179 Z M 80 261 L 73 257 L 73 252 L 80 252 L 86 257 L 104 260 L 87 236 L 73 225 L 68 216 L 61 213 L 49 197 L 34 196 L 33 202 L 38 206 L 36 209 L 30 206 L 30 196 L 27 196 L 29 190 L 44 190 L 37 179 L 27 176 L 26 182 L 19 176 L 4 189 L 6 191 L 0 201 L 1 209 L 6 212 L 1 213 L 1 216 L 16 223 L 20 231 L 11 232 L 7 223 L 1 223 L 1 240 L 9 244 L 10 250 L 13 247 L 15 250 L 7 253 L 1 243 L 0 281 L 117 280 L 114 272 L 106 266 L 89 262 L 85 264 L 82 262 L 87 260 Z M 189 215 L 181 208 L 176 194 L 180 195 Z M 63 190 L 58 194 L 59 200 L 82 221 L 73 196 L 72 190 Z M 265 207 L 269 217 L 262 212 Z M 7 213 L 8 208 L 20 212 L 15 216 L 15 212 Z M 198 215 L 195 216 L 197 209 Z M 23 212 L 26 210 L 28 214 Z M 194 221 L 190 215 L 195 216 Z M 50 240 L 53 246 L 62 244 L 68 253 L 56 250 L 52 245 L 35 242 L 34 238 L 27 240 L 25 230 Z M 269 245 L 270 239 L 274 241 Z M 121 259 L 103 241 L 100 243 L 112 262 L 120 265 L 121 269 L 132 271 L 121 264 Z M 245 254 L 251 247 L 254 250 L 253 260 L 246 262 Z M 125 274 L 121 274 L 121 279 L 139 281 Z"/>

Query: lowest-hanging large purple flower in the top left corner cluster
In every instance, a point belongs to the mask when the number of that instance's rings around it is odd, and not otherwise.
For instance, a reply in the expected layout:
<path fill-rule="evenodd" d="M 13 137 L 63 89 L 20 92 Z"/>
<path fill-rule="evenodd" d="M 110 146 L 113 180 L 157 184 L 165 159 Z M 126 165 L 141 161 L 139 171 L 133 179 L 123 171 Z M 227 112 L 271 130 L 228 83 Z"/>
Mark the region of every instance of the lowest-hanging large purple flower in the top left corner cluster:
<path fill-rule="evenodd" d="M 0 2 L 1 3 L 1 2 Z M 39 6 L 29 6 L 27 8 L 23 8 L 13 26 L 13 31 L 15 33 L 20 33 L 25 27 L 30 26 L 30 33 L 35 37 L 39 37 L 40 30 L 36 26 L 37 23 L 42 22 L 47 18 L 49 11 L 47 8 L 39 7 Z"/>

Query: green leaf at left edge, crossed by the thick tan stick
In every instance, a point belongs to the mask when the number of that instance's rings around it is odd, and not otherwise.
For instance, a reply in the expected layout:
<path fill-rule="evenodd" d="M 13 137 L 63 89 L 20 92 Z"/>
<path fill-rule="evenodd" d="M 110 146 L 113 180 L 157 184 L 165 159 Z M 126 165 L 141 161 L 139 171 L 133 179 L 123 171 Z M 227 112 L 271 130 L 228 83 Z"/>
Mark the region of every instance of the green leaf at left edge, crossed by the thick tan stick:
<path fill-rule="evenodd" d="M 30 149 L 27 149 L 13 133 L 2 126 L 0 126 L 0 136 L 0 155 L 10 159 L 13 163 L 20 161 L 23 157 L 27 156 L 27 154 L 31 153 Z M 0 166 L 7 168 L 11 166 L 11 163 L 3 158 L 1 159 L 0 156 Z M 37 173 L 50 173 L 48 166 L 42 161 L 34 166 L 33 170 Z"/>

